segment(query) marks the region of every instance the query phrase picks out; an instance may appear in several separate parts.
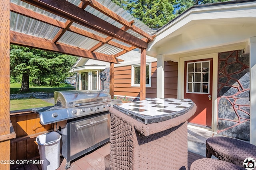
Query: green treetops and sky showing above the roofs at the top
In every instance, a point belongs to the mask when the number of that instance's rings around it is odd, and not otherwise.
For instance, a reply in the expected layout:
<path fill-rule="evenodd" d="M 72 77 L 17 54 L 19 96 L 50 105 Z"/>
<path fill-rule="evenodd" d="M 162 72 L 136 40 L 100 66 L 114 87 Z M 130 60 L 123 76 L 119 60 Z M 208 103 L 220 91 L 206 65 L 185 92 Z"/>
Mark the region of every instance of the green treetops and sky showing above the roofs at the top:
<path fill-rule="evenodd" d="M 159 28 L 194 5 L 228 0 L 112 0 L 148 27 Z"/>

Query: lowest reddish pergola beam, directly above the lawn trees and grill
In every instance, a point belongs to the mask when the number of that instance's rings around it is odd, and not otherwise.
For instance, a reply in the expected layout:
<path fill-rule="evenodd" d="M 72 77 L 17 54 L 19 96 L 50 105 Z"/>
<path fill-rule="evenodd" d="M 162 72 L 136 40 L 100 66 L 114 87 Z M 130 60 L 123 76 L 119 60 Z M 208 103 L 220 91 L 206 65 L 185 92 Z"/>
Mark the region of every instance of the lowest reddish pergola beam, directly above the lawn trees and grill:
<path fill-rule="evenodd" d="M 36 49 L 42 49 L 47 51 L 54 51 L 58 53 L 74 55 L 78 57 L 84 57 L 94 60 L 106 61 L 110 63 L 118 63 L 122 60 L 117 60 L 110 55 L 104 55 L 101 53 L 90 52 L 85 49 L 74 47 L 71 45 L 66 45 L 62 43 L 53 43 L 50 40 L 34 37 L 32 35 L 26 35 L 23 33 L 17 33 L 15 31 L 10 31 L 10 43 L 15 45 L 22 45 L 25 47 L 31 47 Z"/>

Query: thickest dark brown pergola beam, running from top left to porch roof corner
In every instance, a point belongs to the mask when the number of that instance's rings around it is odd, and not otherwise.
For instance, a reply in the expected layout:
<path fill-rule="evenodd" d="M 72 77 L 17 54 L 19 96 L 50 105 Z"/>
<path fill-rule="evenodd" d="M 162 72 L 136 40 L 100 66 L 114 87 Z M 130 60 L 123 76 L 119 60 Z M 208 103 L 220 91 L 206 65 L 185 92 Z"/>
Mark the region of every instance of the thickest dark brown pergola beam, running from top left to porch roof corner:
<path fill-rule="evenodd" d="M 62 18 L 79 23 L 85 27 L 118 39 L 139 48 L 147 48 L 147 42 L 126 33 L 126 31 L 104 21 L 66 0 L 22 0 L 33 6 L 56 14 Z"/>

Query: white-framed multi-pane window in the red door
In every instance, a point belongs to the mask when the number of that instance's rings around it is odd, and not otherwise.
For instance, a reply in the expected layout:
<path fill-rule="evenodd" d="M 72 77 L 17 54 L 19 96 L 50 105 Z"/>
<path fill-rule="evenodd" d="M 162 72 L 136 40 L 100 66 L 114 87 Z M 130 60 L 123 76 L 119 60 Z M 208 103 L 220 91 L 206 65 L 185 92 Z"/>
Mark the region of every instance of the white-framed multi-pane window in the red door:
<path fill-rule="evenodd" d="M 210 61 L 187 63 L 187 93 L 209 94 Z"/>

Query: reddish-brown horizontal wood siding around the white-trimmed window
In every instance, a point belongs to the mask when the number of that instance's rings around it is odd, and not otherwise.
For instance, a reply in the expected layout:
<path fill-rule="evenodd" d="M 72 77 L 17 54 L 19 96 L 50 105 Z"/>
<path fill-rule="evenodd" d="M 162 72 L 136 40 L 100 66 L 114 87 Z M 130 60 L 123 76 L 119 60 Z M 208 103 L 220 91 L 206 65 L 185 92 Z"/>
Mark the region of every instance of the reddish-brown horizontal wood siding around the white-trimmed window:
<path fill-rule="evenodd" d="M 132 66 L 114 68 L 114 95 L 140 97 L 140 87 L 132 87 Z M 177 98 L 178 63 L 165 62 L 165 97 Z M 156 98 L 156 62 L 151 63 L 151 87 L 146 98 Z"/>

